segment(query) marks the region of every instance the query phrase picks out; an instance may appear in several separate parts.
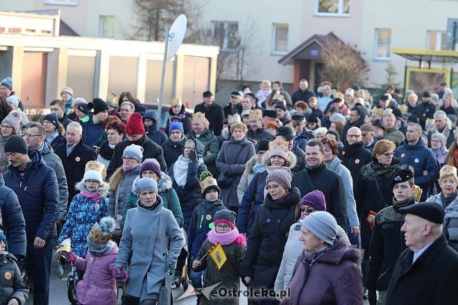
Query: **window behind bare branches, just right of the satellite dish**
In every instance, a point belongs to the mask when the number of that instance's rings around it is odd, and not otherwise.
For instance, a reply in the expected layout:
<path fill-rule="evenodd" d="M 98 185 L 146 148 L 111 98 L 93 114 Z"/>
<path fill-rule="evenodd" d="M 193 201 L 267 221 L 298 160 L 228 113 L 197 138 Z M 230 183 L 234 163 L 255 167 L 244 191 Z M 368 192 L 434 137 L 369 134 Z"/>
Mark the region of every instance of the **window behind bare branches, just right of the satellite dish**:
<path fill-rule="evenodd" d="M 234 51 L 239 45 L 239 24 L 237 22 L 212 22 L 213 44 L 221 51 Z"/>

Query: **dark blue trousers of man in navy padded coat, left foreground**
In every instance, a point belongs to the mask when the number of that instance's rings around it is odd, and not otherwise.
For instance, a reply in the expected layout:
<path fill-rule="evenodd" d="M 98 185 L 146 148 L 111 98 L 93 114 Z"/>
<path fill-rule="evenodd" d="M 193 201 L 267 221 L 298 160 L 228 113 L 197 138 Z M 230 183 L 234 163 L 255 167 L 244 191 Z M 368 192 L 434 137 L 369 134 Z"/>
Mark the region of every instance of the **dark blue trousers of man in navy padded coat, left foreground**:
<path fill-rule="evenodd" d="M 33 305 L 49 304 L 49 279 L 53 259 L 54 238 L 49 238 L 41 249 L 27 241 L 26 272 L 33 281 Z"/>

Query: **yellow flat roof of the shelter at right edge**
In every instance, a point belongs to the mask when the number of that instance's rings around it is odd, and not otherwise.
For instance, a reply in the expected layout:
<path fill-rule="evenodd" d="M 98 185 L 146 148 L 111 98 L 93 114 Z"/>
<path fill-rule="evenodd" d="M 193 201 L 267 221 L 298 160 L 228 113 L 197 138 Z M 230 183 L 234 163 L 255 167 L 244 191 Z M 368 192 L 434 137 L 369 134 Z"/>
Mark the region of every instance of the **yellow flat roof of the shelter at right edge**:
<path fill-rule="evenodd" d="M 392 52 L 407 60 L 415 60 L 417 62 L 450 62 L 452 64 L 458 62 L 458 51 L 393 49 Z"/>

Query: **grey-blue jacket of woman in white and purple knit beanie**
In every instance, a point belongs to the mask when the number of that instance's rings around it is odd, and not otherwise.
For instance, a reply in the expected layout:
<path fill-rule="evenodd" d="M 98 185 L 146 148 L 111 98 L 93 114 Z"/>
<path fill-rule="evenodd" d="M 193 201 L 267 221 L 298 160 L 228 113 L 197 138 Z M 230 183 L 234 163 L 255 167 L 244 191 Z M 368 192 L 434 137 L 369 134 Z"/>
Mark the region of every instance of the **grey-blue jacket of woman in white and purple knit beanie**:
<path fill-rule="evenodd" d="M 119 169 L 122 171 L 122 168 Z M 132 185 L 135 178 L 140 174 L 140 164 L 124 173 L 124 178 L 119 183 L 116 191 L 110 191 L 110 201 L 108 202 L 108 216 L 114 217 L 114 214 L 122 215 L 124 204 L 128 199 L 128 194 L 132 191 Z"/>

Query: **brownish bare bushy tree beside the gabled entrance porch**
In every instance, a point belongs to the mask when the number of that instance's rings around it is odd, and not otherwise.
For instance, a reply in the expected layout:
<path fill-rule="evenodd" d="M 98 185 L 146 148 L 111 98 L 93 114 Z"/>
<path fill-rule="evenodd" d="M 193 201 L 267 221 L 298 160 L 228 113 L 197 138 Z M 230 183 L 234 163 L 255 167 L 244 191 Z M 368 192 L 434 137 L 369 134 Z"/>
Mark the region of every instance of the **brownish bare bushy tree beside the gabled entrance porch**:
<path fill-rule="evenodd" d="M 353 83 L 363 85 L 369 68 L 362 55 L 357 46 L 340 40 L 328 42 L 321 51 L 324 64 L 319 71 L 321 79 L 329 80 L 339 89 L 350 87 Z"/>

